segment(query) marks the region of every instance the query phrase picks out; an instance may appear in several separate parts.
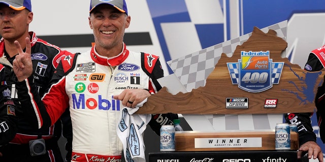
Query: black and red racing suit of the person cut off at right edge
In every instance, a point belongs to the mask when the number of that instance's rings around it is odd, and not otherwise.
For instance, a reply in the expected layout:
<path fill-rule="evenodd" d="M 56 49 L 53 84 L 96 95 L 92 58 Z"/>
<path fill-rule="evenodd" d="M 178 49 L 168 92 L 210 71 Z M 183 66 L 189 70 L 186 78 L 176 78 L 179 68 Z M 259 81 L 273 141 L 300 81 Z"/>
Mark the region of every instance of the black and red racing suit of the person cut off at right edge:
<path fill-rule="evenodd" d="M 325 45 L 310 52 L 304 70 L 319 71 L 324 67 L 323 66 L 325 63 L 325 55 L 323 53 L 325 52 L 324 48 Z M 313 132 L 311 119 L 310 119 L 312 115 L 313 113 L 289 113 L 284 115 L 287 123 L 297 125 L 300 145 L 308 141 L 316 142 L 316 135 Z M 317 115 L 317 120 L 319 121 L 318 124 L 320 124 L 321 118 L 319 118 L 319 111 L 316 112 L 316 115 Z M 325 128 L 321 129 L 320 127 L 320 133 L 321 130 L 325 131 Z M 325 135 L 325 133 L 322 134 Z M 325 141 L 324 137 L 323 138 L 321 137 L 321 139 L 322 141 Z"/>

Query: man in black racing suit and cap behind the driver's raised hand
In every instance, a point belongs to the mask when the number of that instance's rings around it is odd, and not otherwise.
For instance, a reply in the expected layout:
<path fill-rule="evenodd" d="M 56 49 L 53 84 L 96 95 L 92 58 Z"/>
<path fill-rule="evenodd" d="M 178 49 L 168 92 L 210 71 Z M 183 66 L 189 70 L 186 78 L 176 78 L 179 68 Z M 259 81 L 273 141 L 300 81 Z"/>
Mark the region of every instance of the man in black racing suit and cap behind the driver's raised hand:
<path fill-rule="evenodd" d="M 42 129 L 30 125 L 28 123 L 30 116 L 23 111 L 32 107 L 20 104 L 18 101 L 20 96 L 17 97 L 15 90 L 17 77 L 12 68 L 12 62 L 18 54 L 15 41 L 21 44 L 22 49 L 25 49 L 26 46 L 29 47 L 29 57 L 33 64 L 30 81 L 33 82 L 35 90 L 40 95 L 44 94 L 60 59 L 70 54 L 38 38 L 35 32 L 29 31 L 29 24 L 32 22 L 33 16 L 30 0 L 0 1 L 0 35 L 2 36 L 0 57 L 6 67 L 6 82 L 10 87 L 11 98 L 16 105 L 15 114 L 18 117 L 18 132 L 8 144 L 0 147 L 0 152 L 3 154 L 0 161 L 63 161 L 57 143 L 62 134 L 61 121 Z M 26 37 L 28 38 L 27 42 L 25 42 Z M 63 135 L 67 137 L 67 148 L 69 148 L 72 142 L 69 112 L 63 114 L 62 118 L 67 121 L 63 124 L 65 128 Z M 67 151 L 71 154 L 71 149 Z M 71 155 L 68 157 L 71 158 Z"/>

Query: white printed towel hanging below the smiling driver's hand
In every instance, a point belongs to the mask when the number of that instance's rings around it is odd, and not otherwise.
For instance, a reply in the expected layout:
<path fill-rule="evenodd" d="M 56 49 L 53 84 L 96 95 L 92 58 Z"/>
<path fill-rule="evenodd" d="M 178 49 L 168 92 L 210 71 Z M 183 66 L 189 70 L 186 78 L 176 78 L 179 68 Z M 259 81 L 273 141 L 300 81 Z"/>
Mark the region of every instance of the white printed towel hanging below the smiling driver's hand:
<path fill-rule="evenodd" d="M 136 108 L 124 107 L 117 126 L 117 136 L 123 144 L 125 160 L 128 162 L 145 162 L 143 132 L 151 119 L 151 114 L 134 114 L 147 99 Z"/>

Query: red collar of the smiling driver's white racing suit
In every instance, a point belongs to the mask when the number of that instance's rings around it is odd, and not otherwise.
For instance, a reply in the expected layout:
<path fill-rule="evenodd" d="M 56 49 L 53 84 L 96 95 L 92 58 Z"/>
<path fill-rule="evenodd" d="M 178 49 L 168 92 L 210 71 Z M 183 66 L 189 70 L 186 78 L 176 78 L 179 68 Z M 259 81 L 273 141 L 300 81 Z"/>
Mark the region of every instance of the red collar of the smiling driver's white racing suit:
<path fill-rule="evenodd" d="M 117 66 L 117 65 L 121 64 L 127 58 L 128 54 L 129 54 L 129 51 L 126 49 L 126 46 L 124 43 L 123 43 L 122 52 L 115 57 L 104 57 L 104 56 L 99 55 L 95 51 L 95 46 L 93 46 L 90 51 L 91 59 L 95 63 L 105 65 L 105 66 Z"/>

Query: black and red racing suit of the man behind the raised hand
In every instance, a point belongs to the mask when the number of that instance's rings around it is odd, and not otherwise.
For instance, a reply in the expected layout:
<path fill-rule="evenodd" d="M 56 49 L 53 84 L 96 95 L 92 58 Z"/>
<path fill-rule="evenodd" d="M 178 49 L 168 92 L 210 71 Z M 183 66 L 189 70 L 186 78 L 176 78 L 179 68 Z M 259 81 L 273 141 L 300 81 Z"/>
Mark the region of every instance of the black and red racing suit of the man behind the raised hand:
<path fill-rule="evenodd" d="M 38 38 L 34 32 L 29 32 L 31 45 L 31 61 L 33 73 L 31 75 L 31 82 L 36 86 L 36 90 L 40 95 L 43 95 L 47 89 L 50 79 L 52 78 L 55 67 L 58 65 L 61 57 L 71 53 L 62 51 L 58 47 L 47 43 Z M 72 143 L 72 125 L 69 112 L 62 115 L 63 133 L 61 121 L 55 124 L 39 129 L 37 126 L 33 127 L 29 123 L 31 116 L 26 115 L 23 111 L 28 105 L 20 104 L 16 92 L 17 78 L 12 69 L 12 62 L 15 56 L 10 57 L 5 50 L 4 38 L 0 40 L 0 57 L 5 61 L 3 64 L 6 67 L 6 82 L 11 90 L 11 98 L 16 105 L 16 115 L 18 117 L 18 132 L 10 141 L 9 144 L 1 146 L 0 152 L 3 156 L 0 161 L 63 161 L 60 149 L 58 147 L 58 139 L 65 136 L 68 140 L 67 151 L 71 154 Z M 27 94 L 26 94 L 27 95 Z M 37 156 L 30 155 L 29 141 L 36 139 L 44 139 L 46 145 L 46 153 Z M 71 155 L 68 155 L 71 158 Z M 70 159 L 68 159 L 69 161 Z"/>

